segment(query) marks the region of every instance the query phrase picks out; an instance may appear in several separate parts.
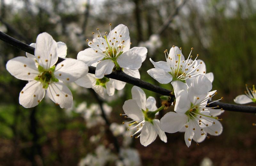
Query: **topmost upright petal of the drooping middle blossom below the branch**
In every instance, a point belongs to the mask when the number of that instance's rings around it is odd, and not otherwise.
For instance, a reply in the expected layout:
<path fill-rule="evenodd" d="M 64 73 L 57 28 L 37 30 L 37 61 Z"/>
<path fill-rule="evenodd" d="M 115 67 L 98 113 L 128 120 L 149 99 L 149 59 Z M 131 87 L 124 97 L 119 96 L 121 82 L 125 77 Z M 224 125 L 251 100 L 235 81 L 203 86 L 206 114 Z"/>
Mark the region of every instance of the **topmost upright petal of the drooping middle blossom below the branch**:
<path fill-rule="evenodd" d="M 137 86 L 132 87 L 132 99 L 136 100 L 141 109 L 146 110 L 146 94 L 141 88 Z"/>

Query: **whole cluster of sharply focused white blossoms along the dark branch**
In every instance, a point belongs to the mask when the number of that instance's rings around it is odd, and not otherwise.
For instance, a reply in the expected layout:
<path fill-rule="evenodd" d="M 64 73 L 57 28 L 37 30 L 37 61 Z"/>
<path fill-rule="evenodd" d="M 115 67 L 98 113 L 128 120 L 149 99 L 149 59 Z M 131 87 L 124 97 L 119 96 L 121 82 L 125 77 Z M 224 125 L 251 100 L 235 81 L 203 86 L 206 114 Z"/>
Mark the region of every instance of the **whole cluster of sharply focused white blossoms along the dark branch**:
<path fill-rule="evenodd" d="M 26 108 L 34 107 L 46 93 L 61 108 L 70 108 L 73 97 L 64 82 L 92 88 L 104 98 L 106 93 L 112 96 L 115 89 L 122 90 L 126 84 L 106 77 L 112 71 L 123 71 L 140 78 L 139 68 L 148 51 L 145 47 L 130 48 L 127 26 L 120 24 L 103 36 L 98 28 L 97 31 L 98 35 L 92 32 L 95 36 L 92 41 L 87 40 L 90 48 L 80 51 L 77 60 L 66 58 L 65 43 L 56 42 L 46 32 L 39 34 L 36 43 L 31 44 L 35 47 L 35 56 L 27 54 L 27 57 L 9 60 L 6 69 L 16 78 L 28 81 L 20 92 L 20 104 Z M 188 147 L 192 139 L 198 144 L 206 137 L 209 138 L 209 134 L 221 134 L 221 119 L 217 116 L 223 109 L 211 108 L 209 105 L 213 102 L 207 103 L 217 94 L 216 90 L 211 91 L 213 74 L 206 73 L 204 61 L 197 59 L 198 54 L 193 60 L 192 50 L 193 48 L 187 59 L 181 48 L 175 46 L 169 52 L 164 51 L 166 61 L 155 62 L 150 58 L 155 68 L 149 69 L 148 74 L 159 83 L 173 87 L 170 96 L 162 97 L 164 101 L 159 108 L 156 106 L 156 99 L 151 96 L 146 98 L 144 91 L 137 86 L 132 88 L 132 99 L 124 102 L 125 114 L 121 115 L 132 119 L 124 124 L 128 124 L 128 129 L 132 132 L 130 136 L 140 138 L 143 146 L 151 144 L 157 135 L 167 142 L 165 132 L 185 132 Z M 58 57 L 65 60 L 56 65 Z M 90 65 L 96 67 L 95 75 L 88 73 Z M 255 89 L 248 91 L 247 96 L 255 98 L 254 94 Z M 156 119 L 158 112 L 170 105 L 174 105 L 174 112 L 166 113 L 160 120 Z M 84 113 L 84 116 L 87 121 L 92 117 L 89 112 Z"/>

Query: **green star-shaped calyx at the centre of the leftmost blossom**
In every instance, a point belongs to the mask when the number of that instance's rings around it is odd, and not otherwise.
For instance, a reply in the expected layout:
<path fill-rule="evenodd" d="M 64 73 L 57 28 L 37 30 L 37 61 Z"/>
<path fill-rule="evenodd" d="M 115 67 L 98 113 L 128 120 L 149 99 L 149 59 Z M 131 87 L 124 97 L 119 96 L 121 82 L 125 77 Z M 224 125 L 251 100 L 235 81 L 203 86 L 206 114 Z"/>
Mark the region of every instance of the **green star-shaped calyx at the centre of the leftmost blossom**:
<path fill-rule="evenodd" d="M 50 69 L 46 70 L 39 65 L 38 71 L 40 72 L 40 74 L 35 77 L 35 80 L 41 82 L 43 88 L 47 89 L 50 83 L 59 82 L 59 80 L 54 76 L 54 70 L 55 66 L 52 66 Z"/>

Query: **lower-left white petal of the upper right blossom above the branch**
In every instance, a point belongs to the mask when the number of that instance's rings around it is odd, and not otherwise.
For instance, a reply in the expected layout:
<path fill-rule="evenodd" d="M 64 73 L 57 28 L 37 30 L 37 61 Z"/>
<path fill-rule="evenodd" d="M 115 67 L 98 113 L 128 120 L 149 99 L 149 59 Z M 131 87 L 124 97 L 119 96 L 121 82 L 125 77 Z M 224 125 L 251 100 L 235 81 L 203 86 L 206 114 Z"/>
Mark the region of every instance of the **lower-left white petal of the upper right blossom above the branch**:
<path fill-rule="evenodd" d="M 156 81 L 159 83 L 170 83 L 172 81 L 172 75 L 170 75 L 168 72 L 164 71 L 163 69 L 149 69 L 148 74 L 153 77 Z"/>

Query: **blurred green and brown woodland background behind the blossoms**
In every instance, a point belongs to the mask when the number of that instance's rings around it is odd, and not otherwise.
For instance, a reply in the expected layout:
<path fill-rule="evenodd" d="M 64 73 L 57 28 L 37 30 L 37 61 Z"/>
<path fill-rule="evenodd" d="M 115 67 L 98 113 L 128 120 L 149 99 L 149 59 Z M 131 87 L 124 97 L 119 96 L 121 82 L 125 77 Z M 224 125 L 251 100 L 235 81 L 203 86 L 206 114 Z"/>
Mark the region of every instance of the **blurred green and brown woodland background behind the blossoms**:
<path fill-rule="evenodd" d="M 177 9 L 178 8 L 178 9 Z M 171 18 L 171 19 L 170 19 Z M 152 34 L 159 33 L 165 22 L 170 24 L 159 39 L 148 46 Z M 41 32 L 48 32 L 56 41 L 68 46 L 67 57 L 88 48 L 86 39 L 92 32 L 109 32 L 118 24 L 128 26 L 132 46 L 148 46 L 146 61 L 140 68 L 141 79 L 164 88 L 147 74 L 153 68 L 149 61 L 165 60 L 163 51 L 172 45 L 182 47 L 185 58 L 199 54 L 213 72 L 214 99 L 232 103 L 244 93 L 245 83 L 256 83 L 256 1 L 255 0 L 0 0 L 0 31 L 27 44 L 36 41 Z M 99 141 L 90 138 L 101 132 L 100 126 L 88 127 L 77 106 L 85 101 L 87 108 L 99 100 L 92 90 L 71 84 L 74 107 L 60 109 L 44 98 L 37 107 L 25 109 L 19 105 L 19 93 L 26 81 L 15 79 L 5 69 L 8 60 L 25 56 L 25 52 L 0 41 L 0 165 L 62 165 L 70 166 L 103 144 L 116 153 L 108 126 L 103 125 Z M 127 84 L 116 97 L 106 97 L 112 106 L 110 122 L 121 124 L 122 105 L 131 98 L 132 85 Z M 147 96 L 158 94 L 145 90 Z M 158 106 L 161 100 L 158 99 Z M 252 104 L 253 105 L 253 104 Z M 254 105 L 255 106 L 255 105 Z M 86 112 L 85 107 L 83 111 Z M 159 117 L 164 115 L 161 112 Z M 187 148 L 184 133 L 167 134 L 165 144 L 159 137 L 148 147 L 133 139 L 131 147 L 139 151 L 141 163 L 151 165 L 200 165 L 205 157 L 213 165 L 255 165 L 256 116 L 241 112 L 224 112 L 223 133 L 196 146 Z M 111 134 L 110 134 L 111 135 Z M 117 136 L 119 144 L 124 138 Z M 107 162 L 106 165 L 113 165 Z"/>

